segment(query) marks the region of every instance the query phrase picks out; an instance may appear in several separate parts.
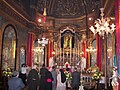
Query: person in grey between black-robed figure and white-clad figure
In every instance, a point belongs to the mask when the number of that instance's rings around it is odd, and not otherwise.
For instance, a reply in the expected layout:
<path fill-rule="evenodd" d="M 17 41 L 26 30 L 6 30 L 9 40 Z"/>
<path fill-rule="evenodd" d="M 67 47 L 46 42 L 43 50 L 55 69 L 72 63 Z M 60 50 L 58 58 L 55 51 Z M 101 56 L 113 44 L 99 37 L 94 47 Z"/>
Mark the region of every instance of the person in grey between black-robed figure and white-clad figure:
<path fill-rule="evenodd" d="M 53 81 L 52 81 L 52 90 L 56 90 L 57 87 L 57 72 L 56 72 L 56 67 L 52 66 L 52 77 L 53 77 Z"/>

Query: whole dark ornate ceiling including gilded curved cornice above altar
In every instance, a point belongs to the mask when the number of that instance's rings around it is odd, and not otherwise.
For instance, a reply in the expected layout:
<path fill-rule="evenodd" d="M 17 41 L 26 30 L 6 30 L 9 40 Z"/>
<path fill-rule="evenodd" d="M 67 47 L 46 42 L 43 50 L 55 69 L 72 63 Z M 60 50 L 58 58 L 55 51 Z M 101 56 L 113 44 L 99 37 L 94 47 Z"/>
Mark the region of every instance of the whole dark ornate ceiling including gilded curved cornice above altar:
<path fill-rule="evenodd" d="M 105 16 L 114 16 L 114 0 L 3 0 L 3 2 L 5 4 L 1 5 L 4 5 L 4 12 L 13 10 L 8 14 L 15 16 L 20 23 L 25 23 L 23 25 L 33 27 L 34 33 L 47 33 L 47 36 L 58 33 L 66 26 L 72 26 L 78 33 L 88 32 L 94 20 L 100 18 L 101 7 L 105 9 Z M 40 25 L 37 19 L 43 18 L 45 7 L 47 21 Z M 88 20 L 89 17 L 92 18 L 91 21 Z"/>

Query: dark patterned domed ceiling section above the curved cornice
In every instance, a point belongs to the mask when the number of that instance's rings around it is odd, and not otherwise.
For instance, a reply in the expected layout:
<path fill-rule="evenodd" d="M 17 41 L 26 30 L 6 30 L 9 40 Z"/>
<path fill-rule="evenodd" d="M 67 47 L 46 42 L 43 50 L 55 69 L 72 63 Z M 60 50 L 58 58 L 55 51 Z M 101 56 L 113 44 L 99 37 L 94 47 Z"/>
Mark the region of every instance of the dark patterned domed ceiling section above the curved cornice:
<path fill-rule="evenodd" d="M 43 14 L 46 7 L 47 16 L 54 18 L 79 18 L 98 11 L 100 0 L 38 0 L 37 12 Z"/>

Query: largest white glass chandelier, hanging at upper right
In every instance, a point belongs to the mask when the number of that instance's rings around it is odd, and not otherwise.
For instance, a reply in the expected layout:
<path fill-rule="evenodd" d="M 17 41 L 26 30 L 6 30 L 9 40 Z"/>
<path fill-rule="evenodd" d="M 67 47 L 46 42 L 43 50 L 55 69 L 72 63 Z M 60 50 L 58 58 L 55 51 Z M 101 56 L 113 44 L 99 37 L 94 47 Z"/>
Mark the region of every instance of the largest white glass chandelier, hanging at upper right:
<path fill-rule="evenodd" d="M 90 30 L 94 33 L 98 33 L 101 37 L 105 34 L 108 35 L 109 33 L 112 34 L 115 30 L 115 25 L 111 23 L 110 18 L 104 18 L 104 8 L 100 8 L 101 11 L 101 19 L 95 20 L 95 25 L 90 27 Z"/>

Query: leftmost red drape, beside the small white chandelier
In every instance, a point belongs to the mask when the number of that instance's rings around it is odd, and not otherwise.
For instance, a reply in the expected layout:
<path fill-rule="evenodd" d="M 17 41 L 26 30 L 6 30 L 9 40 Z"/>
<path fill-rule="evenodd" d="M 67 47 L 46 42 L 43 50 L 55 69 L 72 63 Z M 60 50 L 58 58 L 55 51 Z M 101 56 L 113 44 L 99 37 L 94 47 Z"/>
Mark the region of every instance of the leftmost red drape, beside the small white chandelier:
<path fill-rule="evenodd" d="M 29 32 L 28 33 L 28 43 L 27 43 L 27 53 L 26 53 L 26 58 L 27 58 L 27 65 L 29 67 L 32 66 L 32 58 L 33 58 L 33 45 L 34 45 L 34 34 Z"/>

